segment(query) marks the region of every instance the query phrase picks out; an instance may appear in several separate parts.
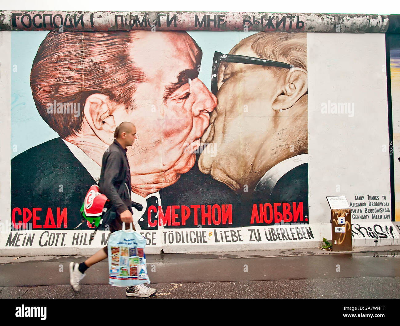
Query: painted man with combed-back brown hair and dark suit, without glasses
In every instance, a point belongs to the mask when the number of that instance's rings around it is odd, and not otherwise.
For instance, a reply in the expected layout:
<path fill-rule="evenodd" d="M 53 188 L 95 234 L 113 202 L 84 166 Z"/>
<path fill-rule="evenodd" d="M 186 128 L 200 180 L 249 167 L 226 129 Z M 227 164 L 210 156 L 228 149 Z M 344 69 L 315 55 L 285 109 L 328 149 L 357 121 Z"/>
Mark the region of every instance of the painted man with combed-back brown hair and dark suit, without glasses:
<path fill-rule="evenodd" d="M 157 50 L 154 50 L 157 44 Z M 144 206 L 194 165 L 216 98 L 198 79 L 202 51 L 186 32 L 50 32 L 31 70 L 32 96 L 60 138 L 12 159 L 11 210 L 36 209 L 36 224 L 76 227 L 104 150 L 123 121 L 140 123 L 128 150 L 132 198 Z M 67 218 L 46 218 L 51 210 Z M 140 216 L 140 215 L 139 215 Z M 142 219 L 141 219 L 142 220 Z M 147 228 L 147 219 L 137 221 Z M 138 228 L 138 225 L 136 225 Z"/>

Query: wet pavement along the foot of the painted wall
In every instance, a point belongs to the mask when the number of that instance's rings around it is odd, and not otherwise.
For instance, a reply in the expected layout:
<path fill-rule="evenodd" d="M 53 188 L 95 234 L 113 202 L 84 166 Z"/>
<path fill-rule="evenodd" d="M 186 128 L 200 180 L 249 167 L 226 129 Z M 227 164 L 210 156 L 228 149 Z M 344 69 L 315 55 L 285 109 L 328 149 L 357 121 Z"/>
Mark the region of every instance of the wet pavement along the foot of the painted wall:
<path fill-rule="evenodd" d="M 400 246 L 146 255 L 156 298 L 364 298 L 400 293 Z M 92 266 L 82 290 L 69 286 L 68 264 L 85 257 L 0 257 L 0 298 L 125 298 L 108 285 L 108 262 Z M 340 271 L 338 272 L 338 267 Z"/>

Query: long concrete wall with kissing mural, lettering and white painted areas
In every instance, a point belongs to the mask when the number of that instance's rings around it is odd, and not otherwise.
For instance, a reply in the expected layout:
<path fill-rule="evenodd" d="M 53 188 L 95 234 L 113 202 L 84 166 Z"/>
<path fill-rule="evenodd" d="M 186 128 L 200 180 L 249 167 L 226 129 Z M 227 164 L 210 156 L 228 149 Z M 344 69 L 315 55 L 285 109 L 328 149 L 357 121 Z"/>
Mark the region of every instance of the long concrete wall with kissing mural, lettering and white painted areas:
<path fill-rule="evenodd" d="M 353 246 L 398 245 L 399 26 L 0 12 L 0 254 L 107 244 L 80 209 L 123 121 L 137 130 L 127 156 L 148 253 L 315 248 L 332 239 L 326 196 L 346 196 Z"/>

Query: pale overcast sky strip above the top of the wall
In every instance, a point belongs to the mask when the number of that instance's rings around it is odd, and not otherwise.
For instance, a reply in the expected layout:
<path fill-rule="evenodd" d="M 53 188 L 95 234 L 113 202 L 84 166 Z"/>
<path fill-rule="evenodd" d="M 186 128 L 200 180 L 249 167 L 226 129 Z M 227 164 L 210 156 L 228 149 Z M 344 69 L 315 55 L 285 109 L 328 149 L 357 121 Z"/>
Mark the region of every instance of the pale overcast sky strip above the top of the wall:
<path fill-rule="evenodd" d="M 248 11 L 400 14 L 399 0 L 0 0 L 0 10 Z"/>

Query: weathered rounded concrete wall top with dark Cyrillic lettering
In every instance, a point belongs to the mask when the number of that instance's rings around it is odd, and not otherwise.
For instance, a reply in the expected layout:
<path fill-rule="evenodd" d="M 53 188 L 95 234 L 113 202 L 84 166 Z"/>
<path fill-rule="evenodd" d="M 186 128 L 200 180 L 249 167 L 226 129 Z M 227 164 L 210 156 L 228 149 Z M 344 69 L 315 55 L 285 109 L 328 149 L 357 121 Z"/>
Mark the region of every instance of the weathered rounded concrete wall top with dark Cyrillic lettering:
<path fill-rule="evenodd" d="M 393 21 L 393 26 L 391 22 Z M 399 32 L 399 15 L 264 12 L 0 11 L 0 30 Z"/>

